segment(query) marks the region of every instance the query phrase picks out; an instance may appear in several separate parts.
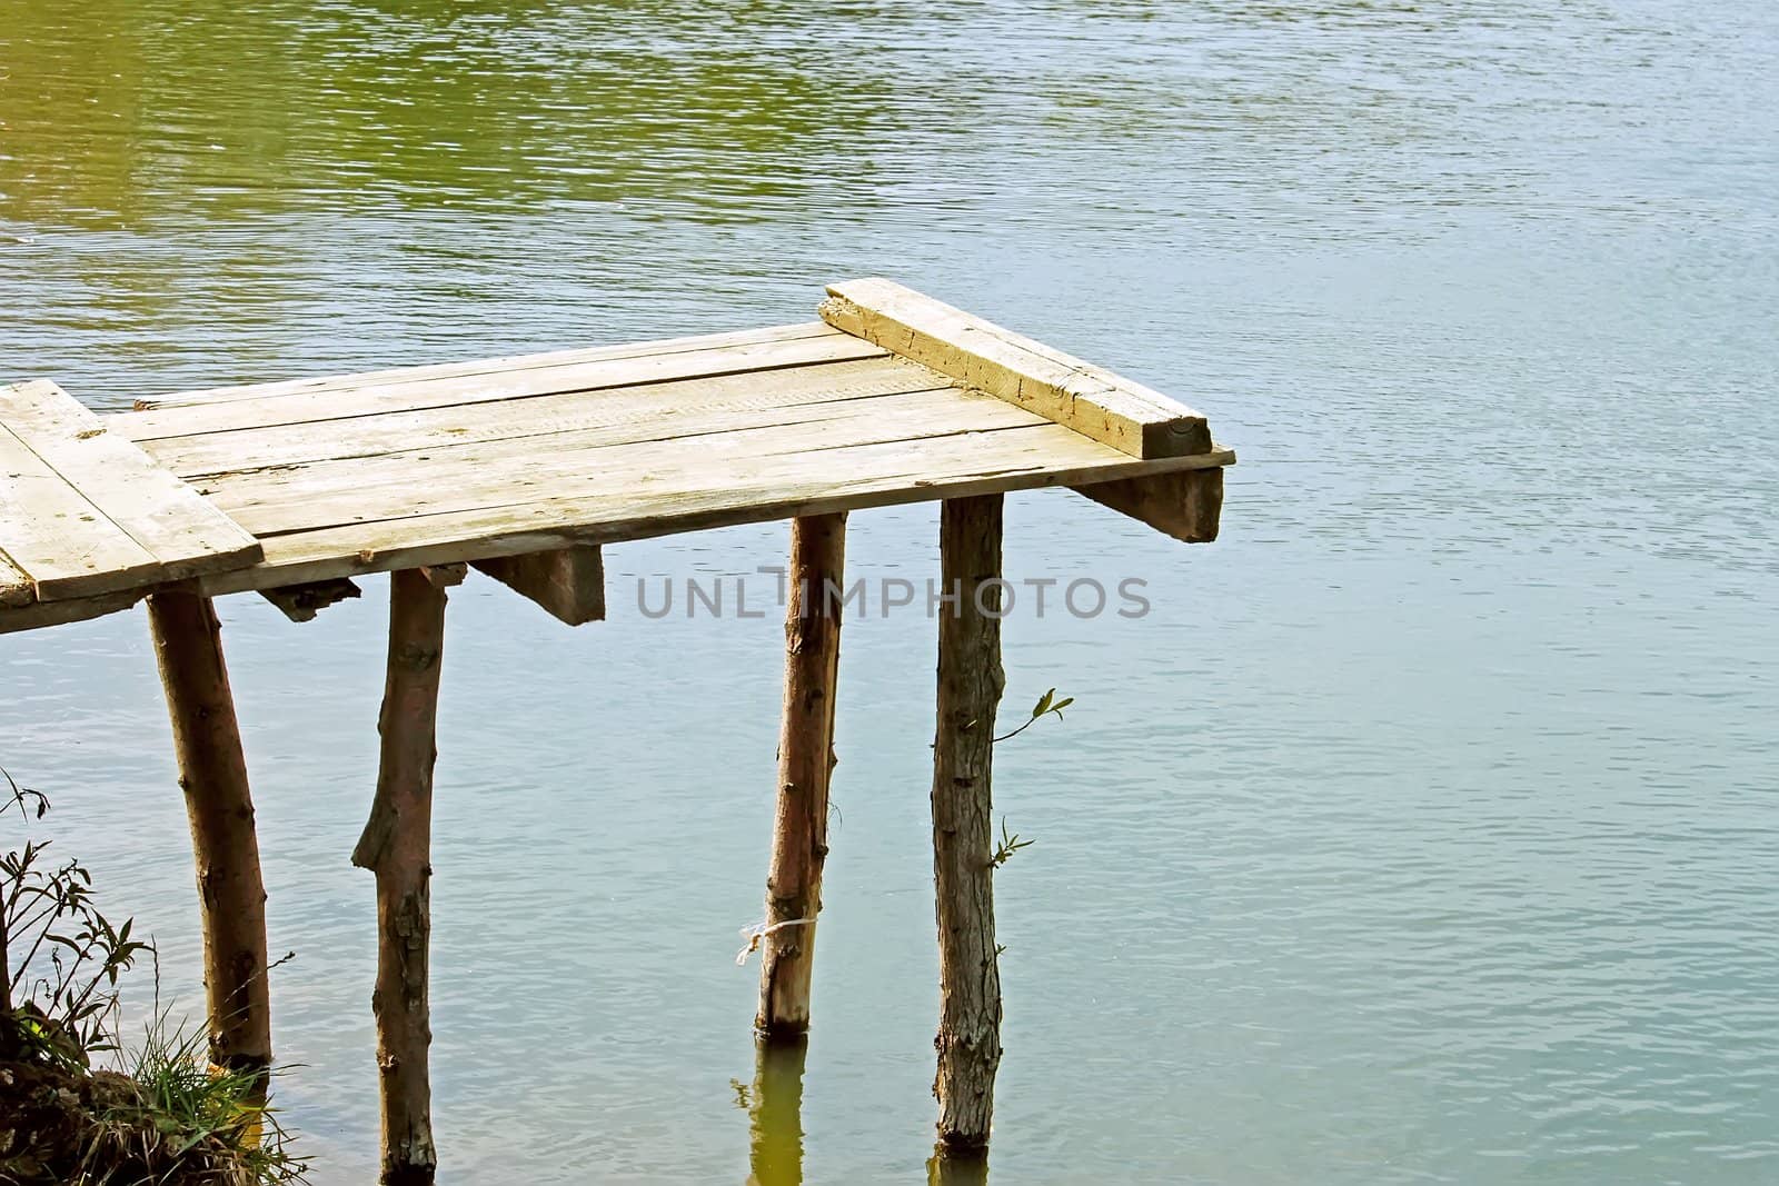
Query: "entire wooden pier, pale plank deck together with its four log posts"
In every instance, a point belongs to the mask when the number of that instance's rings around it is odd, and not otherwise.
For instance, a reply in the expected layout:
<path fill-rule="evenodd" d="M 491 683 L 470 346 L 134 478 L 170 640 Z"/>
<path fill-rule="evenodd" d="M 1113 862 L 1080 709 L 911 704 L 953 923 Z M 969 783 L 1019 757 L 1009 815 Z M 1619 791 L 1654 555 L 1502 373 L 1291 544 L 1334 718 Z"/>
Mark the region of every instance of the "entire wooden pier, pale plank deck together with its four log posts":
<path fill-rule="evenodd" d="M 1204 418 L 891 281 L 820 320 L 192 391 L 98 416 L 0 386 L 0 633 L 148 601 L 192 823 L 212 1054 L 270 1063 L 265 891 L 210 599 L 310 621 L 391 573 L 381 770 L 352 853 L 375 873 L 382 1181 L 431 1181 L 427 958 L 434 711 L 448 587 L 473 567 L 578 626 L 600 546 L 790 519 L 785 720 L 761 1042 L 809 1026 L 827 855 L 847 512 L 943 500 L 934 873 L 939 1142 L 980 1149 L 1000 1062 L 991 759 L 1002 494 L 1067 485 L 1185 542 L 1217 535 Z M 276 887 L 274 887 L 276 891 Z"/>

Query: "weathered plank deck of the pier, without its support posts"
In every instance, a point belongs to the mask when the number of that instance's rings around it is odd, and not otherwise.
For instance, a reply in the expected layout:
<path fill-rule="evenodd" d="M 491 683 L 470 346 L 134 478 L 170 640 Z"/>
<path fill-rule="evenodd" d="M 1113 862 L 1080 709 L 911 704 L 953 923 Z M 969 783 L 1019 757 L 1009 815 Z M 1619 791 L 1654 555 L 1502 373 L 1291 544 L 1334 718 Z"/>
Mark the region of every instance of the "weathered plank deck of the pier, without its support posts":
<path fill-rule="evenodd" d="M 886 281 L 834 293 L 799 325 L 110 416 L 0 388 L 0 631 L 189 578 L 272 590 L 1041 485 L 1110 501 L 1131 491 L 1099 484 L 1233 461 L 1203 416 L 1078 359 Z M 1163 530 L 1210 537 L 1215 510 Z"/>

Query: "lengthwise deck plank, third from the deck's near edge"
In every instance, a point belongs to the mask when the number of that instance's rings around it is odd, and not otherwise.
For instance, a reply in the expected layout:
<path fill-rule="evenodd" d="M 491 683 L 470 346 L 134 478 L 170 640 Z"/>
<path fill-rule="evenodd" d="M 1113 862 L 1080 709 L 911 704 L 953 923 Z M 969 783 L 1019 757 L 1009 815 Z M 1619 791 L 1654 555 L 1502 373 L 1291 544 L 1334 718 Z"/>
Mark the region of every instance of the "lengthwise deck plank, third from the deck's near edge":
<path fill-rule="evenodd" d="M 553 448 L 553 434 L 598 429 L 610 439 L 655 439 L 710 432 L 720 413 L 761 413 L 831 404 L 948 384 L 934 370 L 891 356 L 772 372 L 683 379 L 601 391 L 566 391 L 521 400 L 427 407 L 352 420 L 272 425 L 142 441 L 148 452 L 187 482 L 253 469 L 313 462 L 429 453 L 487 441 L 516 441 L 518 453 Z M 770 420 L 770 418 L 765 418 Z M 761 421 L 742 416 L 740 421 Z"/>

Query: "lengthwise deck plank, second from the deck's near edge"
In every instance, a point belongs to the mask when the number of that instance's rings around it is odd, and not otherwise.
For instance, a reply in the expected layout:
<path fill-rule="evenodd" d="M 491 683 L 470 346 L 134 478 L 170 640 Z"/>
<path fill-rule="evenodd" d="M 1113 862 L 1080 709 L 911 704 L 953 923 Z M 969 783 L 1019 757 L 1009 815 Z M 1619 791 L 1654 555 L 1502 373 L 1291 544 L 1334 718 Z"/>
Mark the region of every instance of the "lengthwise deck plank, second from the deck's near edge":
<path fill-rule="evenodd" d="M 589 485 L 655 489 L 696 475 L 717 459 L 770 457 L 868 441 L 1044 423 L 1000 400 L 962 393 L 904 391 L 799 409 L 719 418 L 720 427 L 592 430 L 539 441 L 495 441 L 391 453 L 295 469 L 219 475 L 203 491 L 258 535 L 429 514 L 447 507 L 571 496 Z"/>

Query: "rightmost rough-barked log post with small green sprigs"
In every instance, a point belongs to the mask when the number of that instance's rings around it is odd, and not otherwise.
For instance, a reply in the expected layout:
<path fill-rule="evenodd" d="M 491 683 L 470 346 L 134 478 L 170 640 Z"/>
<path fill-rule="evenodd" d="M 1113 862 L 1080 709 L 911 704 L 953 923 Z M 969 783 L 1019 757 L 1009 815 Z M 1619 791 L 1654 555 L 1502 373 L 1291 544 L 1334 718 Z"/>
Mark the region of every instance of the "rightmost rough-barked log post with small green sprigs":
<path fill-rule="evenodd" d="M 1000 1065 L 991 761 L 1000 663 L 1002 496 L 939 510 L 939 722 L 932 745 L 932 869 L 939 919 L 939 1143 L 980 1149 Z"/>

